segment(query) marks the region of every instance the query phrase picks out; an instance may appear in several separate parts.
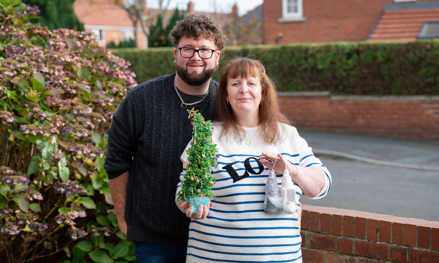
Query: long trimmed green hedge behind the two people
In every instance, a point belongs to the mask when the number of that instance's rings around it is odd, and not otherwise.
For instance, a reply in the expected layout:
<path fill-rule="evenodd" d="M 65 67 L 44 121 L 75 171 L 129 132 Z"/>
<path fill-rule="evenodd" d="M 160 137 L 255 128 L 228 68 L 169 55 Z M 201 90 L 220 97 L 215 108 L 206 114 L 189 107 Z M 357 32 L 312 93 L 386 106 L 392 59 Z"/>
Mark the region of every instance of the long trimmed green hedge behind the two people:
<path fill-rule="evenodd" d="M 172 48 L 123 49 L 137 82 L 175 71 Z M 439 95 L 439 41 L 230 46 L 262 60 L 281 91 L 358 95 Z M 222 63 L 223 64 L 223 63 Z M 219 80 L 219 71 L 213 79 Z"/>

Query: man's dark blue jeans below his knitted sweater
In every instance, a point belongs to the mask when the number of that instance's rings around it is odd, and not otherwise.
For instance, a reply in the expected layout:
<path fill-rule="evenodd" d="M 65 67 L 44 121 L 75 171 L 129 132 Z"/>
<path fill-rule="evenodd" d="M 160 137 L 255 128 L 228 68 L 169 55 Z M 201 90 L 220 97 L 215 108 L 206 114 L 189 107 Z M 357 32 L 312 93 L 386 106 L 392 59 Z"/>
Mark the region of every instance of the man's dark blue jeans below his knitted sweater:
<path fill-rule="evenodd" d="M 134 242 L 136 263 L 185 263 L 186 248 Z"/>

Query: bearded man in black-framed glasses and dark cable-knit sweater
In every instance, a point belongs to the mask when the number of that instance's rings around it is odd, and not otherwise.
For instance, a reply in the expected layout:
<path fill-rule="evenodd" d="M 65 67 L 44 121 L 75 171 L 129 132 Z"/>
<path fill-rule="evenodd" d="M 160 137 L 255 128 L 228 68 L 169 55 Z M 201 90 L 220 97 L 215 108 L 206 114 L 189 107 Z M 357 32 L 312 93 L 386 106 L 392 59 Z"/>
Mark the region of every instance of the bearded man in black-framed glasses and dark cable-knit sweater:
<path fill-rule="evenodd" d="M 119 228 L 135 242 L 137 263 L 185 262 L 190 219 L 175 206 L 175 185 L 192 136 L 188 111 L 214 117 L 218 83 L 211 76 L 228 41 L 205 14 L 187 14 L 169 39 L 176 72 L 131 89 L 108 129 L 104 168 Z M 208 210 L 199 209 L 192 218 Z"/>

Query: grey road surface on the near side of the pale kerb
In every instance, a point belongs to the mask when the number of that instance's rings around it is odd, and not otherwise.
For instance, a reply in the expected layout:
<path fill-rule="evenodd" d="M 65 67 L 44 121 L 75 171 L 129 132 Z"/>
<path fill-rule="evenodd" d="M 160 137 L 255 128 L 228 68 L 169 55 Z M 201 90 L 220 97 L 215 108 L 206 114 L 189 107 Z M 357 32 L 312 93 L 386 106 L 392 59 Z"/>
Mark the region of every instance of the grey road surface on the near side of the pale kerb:
<path fill-rule="evenodd" d="M 439 175 L 353 160 L 320 160 L 333 184 L 323 199 L 302 203 L 439 221 Z"/>

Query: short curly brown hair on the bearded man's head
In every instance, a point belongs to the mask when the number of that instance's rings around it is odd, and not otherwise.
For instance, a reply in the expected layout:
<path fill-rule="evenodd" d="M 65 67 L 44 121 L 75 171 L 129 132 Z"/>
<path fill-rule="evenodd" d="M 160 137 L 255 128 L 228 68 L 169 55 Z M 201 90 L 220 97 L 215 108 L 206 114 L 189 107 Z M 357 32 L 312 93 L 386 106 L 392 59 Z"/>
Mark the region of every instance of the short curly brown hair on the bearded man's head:
<path fill-rule="evenodd" d="M 200 38 L 212 40 L 221 52 L 219 59 L 223 58 L 224 46 L 229 42 L 218 22 L 212 19 L 209 14 L 204 13 L 186 14 L 184 20 L 178 21 L 171 32 L 169 32 L 169 40 L 175 46 L 177 46 L 183 36 L 195 40 Z"/>

